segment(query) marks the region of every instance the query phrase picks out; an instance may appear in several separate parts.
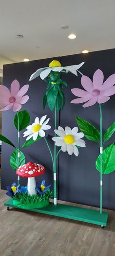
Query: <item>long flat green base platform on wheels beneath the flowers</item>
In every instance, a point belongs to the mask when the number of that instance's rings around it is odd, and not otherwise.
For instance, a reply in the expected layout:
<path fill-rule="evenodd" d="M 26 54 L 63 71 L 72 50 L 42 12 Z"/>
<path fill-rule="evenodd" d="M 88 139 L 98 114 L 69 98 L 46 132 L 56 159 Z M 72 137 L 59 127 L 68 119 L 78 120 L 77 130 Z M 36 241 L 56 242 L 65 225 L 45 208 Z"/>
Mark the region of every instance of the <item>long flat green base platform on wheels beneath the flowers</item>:
<path fill-rule="evenodd" d="M 13 205 L 12 198 L 6 201 L 4 203 L 4 206 L 21 209 Z M 62 218 L 67 218 L 71 220 L 83 221 L 83 222 L 92 223 L 92 224 L 96 224 L 104 227 L 107 226 L 107 220 L 109 216 L 109 213 L 107 211 L 103 211 L 102 213 L 100 213 L 99 210 L 86 209 L 86 208 L 70 206 L 70 205 L 57 204 L 57 206 L 55 206 L 54 203 L 50 203 L 48 206 L 42 209 L 41 208 L 30 209 L 30 211 L 36 211 L 36 212 L 58 216 Z"/>

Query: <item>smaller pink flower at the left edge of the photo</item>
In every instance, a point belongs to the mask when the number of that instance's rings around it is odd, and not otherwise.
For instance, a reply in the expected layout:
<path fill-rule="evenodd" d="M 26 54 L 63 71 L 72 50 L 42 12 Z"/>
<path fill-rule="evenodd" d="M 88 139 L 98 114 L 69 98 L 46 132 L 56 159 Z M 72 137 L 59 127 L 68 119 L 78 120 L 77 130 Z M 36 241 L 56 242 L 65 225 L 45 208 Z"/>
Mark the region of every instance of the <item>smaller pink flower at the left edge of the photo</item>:
<path fill-rule="evenodd" d="M 0 106 L 5 106 L 0 109 L 0 111 L 9 110 L 13 108 L 13 111 L 19 111 L 21 108 L 21 104 L 24 104 L 28 101 L 29 96 L 25 95 L 27 93 L 29 85 L 24 85 L 19 90 L 19 82 L 18 80 L 14 80 L 11 84 L 11 92 L 10 90 L 4 86 L 0 86 Z"/>

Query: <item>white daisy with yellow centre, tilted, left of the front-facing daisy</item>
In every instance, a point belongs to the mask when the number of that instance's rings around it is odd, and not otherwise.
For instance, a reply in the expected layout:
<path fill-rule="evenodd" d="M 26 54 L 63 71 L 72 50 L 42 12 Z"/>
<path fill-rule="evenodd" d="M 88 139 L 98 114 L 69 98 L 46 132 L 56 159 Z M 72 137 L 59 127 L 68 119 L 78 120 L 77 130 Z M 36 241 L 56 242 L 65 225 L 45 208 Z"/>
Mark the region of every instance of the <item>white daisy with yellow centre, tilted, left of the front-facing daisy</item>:
<path fill-rule="evenodd" d="M 29 125 L 26 127 L 27 131 L 25 131 L 23 134 L 23 137 L 26 137 L 26 140 L 30 140 L 31 138 L 33 138 L 33 140 L 37 140 L 38 135 L 40 137 L 44 137 L 45 136 L 45 132 L 43 130 L 49 130 L 51 128 L 50 125 L 47 125 L 47 123 L 49 122 L 50 118 L 48 118 L 46 121 L 46 116 L 42 116 L 39 120 L 38 117 L 36 117 L 35 122 L 32 125 Z"/>

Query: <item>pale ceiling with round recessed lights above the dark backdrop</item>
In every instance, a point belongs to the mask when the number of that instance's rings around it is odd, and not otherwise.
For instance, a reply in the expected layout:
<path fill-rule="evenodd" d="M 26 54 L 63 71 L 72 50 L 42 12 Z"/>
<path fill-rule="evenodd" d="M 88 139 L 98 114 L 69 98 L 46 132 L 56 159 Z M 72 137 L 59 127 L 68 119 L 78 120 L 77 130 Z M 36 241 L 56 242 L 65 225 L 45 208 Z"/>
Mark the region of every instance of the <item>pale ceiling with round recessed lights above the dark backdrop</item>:
<path fill-rule="evenodd" d="M 71 33 L 77 38 L 68 39 Z M 115 48 L 115 0 L 0 0 L 0 69 L 85 48 Z"/>

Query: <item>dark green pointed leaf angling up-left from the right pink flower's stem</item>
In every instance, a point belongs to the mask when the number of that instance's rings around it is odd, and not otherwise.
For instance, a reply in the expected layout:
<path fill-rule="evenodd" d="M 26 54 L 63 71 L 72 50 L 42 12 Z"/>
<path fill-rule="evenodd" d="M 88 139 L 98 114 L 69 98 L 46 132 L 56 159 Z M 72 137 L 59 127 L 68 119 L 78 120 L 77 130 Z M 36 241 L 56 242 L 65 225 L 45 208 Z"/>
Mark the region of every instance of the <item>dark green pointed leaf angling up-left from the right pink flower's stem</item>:
<path fill-rule="evenodd" d="M 77 124 L 79 126 L 79 129 L 81 132 L 84 133 L 85 137 L 88 140 L 93 140 L 93 141 L 99 141 L 100 140 L 100 133 L 96 129 L 94 125 L 91 123 L 87 122 L 86 120 L 76 116 L 77 119 Z"/>

